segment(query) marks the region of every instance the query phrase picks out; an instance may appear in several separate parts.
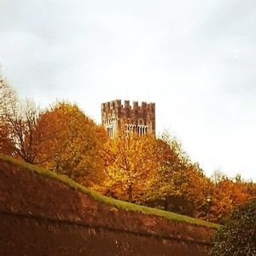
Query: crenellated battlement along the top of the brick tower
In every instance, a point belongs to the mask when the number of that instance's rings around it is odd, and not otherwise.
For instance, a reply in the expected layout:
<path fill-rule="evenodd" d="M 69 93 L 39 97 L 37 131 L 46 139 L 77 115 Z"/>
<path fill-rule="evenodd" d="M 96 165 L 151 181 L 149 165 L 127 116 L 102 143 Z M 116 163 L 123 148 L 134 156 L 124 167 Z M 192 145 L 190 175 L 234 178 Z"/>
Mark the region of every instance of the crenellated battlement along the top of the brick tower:
<path fill-rule="evenodd" d="M 146 110 L 146 111 L 154 111 L 155 109 L 155 103 L 153 102 L 142 102 L 141 105 L 138 104 L 138 102 L 132 102 L 132 105 L 130 104 L 130 101 L 125 101 L 122 104 L 121 100 L 114 100 L 111 102 L 105 102 L 102 103 L 102 111 L 103 112 L 108 112 L 110 110 Z"/>

